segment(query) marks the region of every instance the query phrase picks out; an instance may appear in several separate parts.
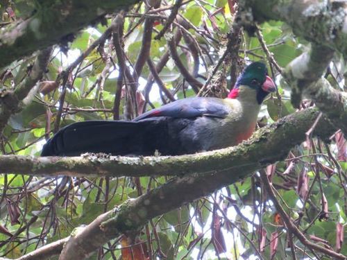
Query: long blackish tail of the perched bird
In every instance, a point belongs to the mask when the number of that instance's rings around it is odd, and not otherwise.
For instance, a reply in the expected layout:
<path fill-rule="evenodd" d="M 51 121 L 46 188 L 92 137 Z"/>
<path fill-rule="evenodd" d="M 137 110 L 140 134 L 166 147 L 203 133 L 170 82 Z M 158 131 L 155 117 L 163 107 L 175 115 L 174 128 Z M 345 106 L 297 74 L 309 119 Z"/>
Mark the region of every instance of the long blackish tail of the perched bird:
<path fill-rule="evenodd" d="M 79 156 L 87 152 L 153 155 L 157 145 L 155 134 L 163 130 L 163 124 L 160 121 L 158 123 L 151 120 L 73 123 L 59 130 L 47 141 L 41 156 Z"/>

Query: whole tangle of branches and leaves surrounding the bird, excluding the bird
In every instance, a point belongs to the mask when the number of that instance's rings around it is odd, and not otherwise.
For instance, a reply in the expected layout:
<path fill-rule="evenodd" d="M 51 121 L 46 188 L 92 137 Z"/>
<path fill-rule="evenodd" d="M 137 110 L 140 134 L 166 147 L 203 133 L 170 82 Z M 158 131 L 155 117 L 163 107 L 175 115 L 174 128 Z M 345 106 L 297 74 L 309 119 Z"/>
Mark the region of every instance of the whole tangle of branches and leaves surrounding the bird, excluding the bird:
<path fill-rule="evenodd" d="M 0 259 L 346 259 L 344 1 L 0 1 Z M 277 91 L 238 146 L 40 157 L 66 125 Z"/>

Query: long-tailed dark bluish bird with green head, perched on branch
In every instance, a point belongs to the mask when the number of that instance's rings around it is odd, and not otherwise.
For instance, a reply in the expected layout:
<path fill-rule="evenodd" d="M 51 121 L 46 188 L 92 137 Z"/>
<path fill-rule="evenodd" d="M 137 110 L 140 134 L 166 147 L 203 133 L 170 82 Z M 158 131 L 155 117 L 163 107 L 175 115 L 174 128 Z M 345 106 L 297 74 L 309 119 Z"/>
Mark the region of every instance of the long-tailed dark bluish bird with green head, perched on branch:
<path fill-rule="evenodd" d="M 271 92 L 276 85 L 266 65 L 253 62 L 227 98 L 184 98 L 132 121 L 72 123 L 46 141 L 41 156 L 185 155 L 236 146 L 253 134 L 262 101 Z"/>

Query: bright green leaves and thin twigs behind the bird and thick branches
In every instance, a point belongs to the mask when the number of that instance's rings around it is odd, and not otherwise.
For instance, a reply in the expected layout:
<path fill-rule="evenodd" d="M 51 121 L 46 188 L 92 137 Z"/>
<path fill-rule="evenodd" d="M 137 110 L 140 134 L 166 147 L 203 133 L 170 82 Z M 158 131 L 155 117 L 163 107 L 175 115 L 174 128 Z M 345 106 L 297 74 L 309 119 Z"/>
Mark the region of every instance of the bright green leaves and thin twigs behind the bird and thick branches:
<path fill-rule="evenodd" d="M 12 26 L 31 17 L 37 8 L 43 8 L 40 4 L 43 3 L 1 1 L 0 26 Z M 169 22 L 166 35 L 158 39 L 156 35 L 175 10 L 176 19 Z M 3 128 L 2 155 L 39 156 L 44 140 L 69 123 L 128 120 L 151 107 L 195 96 L 210 78 L 211 68 L 221 59 L 223 62 L 211 84 L 199 94 L 224 97 L 226 88 L 230 89 L 235 76 L 250 61 L 265 61 L 271 76 L 276 78 L 278 93 L 264 102 L 259 128 L 314 106 L 307 99 L 303 99 L 298 109 L 291 105 L 290 86 L 281 69 L 307 51 L 310 43 L 294 35 L 281 21 L 266 21 L 258 28 L 235 34 L 232 26 L 236 10 L 237 1 L 226 0 L 140 2 L 124 13 L 124 24 L 118 25 L 117 32 L 120 42 L 115 41 L 117 35 L 110 30 L 115 14 L 60 39 L 53 46 L 37 85 L 39 92 L 22 111 L 12 114 Z M 230 42 L 235 44 L 237 55 L 225 56 Z M 123 64 L 117 47 L 124 55 Z M 335 89 L 346 92 L 343 54 L 335 53 L 324 77 Z M 15 89 L 24 83 L 37 55 L 33 53 L 3 67 L 1 87 Z M 160 80 L 153 79 L 155 73 Z M 271 179 L 276 198 L 303 234 L 310 241 L 345 255 L 346 157 L 346 140 L 341 131 L 324 141 L 307 135 L 307 141 L 293 148 L 285 161 L 261 170 Z M 64 239 L 76 227 L 91 223 L 103 212 L 169 180 L 170 177 L 160 176 L 53 178 L 1 174 L 0 255 L 16 259 Z M 136 236 L 128 234 L 110 240 L 92 258 L 324 259 L 324 256 L 307 248 L 283 227 L 260 174 L 255 173 L 211 196 L 153 218 Z"/>

